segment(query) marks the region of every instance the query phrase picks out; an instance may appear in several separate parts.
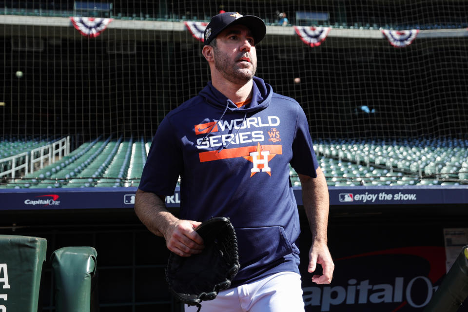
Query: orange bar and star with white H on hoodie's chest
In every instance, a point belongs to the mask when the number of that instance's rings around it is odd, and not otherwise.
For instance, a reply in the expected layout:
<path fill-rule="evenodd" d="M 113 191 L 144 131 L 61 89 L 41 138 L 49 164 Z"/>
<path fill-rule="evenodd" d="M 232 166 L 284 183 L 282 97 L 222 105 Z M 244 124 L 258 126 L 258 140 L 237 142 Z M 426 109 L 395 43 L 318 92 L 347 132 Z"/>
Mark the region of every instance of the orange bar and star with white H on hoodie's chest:
<path fill-rule="evenodd" d="M 198 154 L 200 162 L 243 157 L 252 162 L 251 177 L 258 172 L 266 172 L 272 176 L 269 161 L 276 155 L 282 155 L 282 145 L 260 145 L 230 148 L 221 151 L 208 151 Z"/>

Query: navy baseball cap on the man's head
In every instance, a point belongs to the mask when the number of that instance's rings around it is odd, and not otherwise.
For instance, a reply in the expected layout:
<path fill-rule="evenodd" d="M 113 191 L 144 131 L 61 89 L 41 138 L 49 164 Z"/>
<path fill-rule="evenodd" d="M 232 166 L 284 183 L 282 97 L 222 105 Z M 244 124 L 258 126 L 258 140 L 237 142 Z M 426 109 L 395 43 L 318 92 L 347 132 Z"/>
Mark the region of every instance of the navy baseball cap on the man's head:
<path fill-rule="evenodd" d="M 211 18 L 210 23 L 206 26 L 203 38 L 205 44 L 216 38 L 216 36 L 226 29 L 228 26 L 233 25 L 244 25 L 250 29 L 252 36 L 254 37 L 254 44 L 260 42 L 265 33 L 267 32 L 267 26 L 262 19 L 253 15 L 240 15 L 237 12 L 226 12 L 215 15 Z"/>

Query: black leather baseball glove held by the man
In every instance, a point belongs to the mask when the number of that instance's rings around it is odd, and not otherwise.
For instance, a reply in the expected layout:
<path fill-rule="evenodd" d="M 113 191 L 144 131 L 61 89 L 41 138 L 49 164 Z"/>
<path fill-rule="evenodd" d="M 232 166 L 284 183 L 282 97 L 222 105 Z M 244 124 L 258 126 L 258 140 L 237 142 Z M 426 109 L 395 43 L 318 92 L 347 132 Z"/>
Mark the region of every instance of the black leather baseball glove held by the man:
<path fill-rule="evenodd" d="M 195 231 L 203 238 L 205 248 L 189 257 L 171 252 L 166 280 L 176 299 L 200 311 L 203 300 L 213 300 L 220 290 L 231 286 L 240 265 L 237 238 L 228 218 L 212 218 Z"/>

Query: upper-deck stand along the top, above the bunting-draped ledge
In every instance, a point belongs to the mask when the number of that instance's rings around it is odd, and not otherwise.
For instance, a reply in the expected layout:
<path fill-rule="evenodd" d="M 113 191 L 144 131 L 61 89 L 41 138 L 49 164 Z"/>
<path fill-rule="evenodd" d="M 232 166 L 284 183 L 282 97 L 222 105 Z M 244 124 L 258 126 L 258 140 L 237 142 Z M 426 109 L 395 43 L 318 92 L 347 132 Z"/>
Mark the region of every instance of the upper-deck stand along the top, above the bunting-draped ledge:
<path fill-rule="evenodd" d="M 129 5 L 122 1 L 0 1 L 0 14 L 25 15 L 25 16 L 43 16 L 43 17 L 106 17 L 117 20 L 147 20 L 147 21 L 179 21 L 179 20 L 199 20 L 209 21 L 212 14 L 208 12 L 217 12 L 219 4 L 214 1 L 207 1 L 204 5 L 191 6 L 189 10 L 184 10 L 184 3 L 180 1 L 178 5 L 170 5 L 165 1 L 134 1 Z M 242 6 L 238 3 L 238 6 Z M 453 4 L 456 6 L 455 4 Z M 293 4 L 282 4 L 283 12 L 294 12 Z M 344 7 L 344 5 L 343 5 Z M 424 3 L 419 7 L 422 12 L 429 12 L 434 5 L 430 2 Z M 462 16 L 446 15 L 447 12 L 432 11 L 431 14 L 420 16 L 392 16 L 392 11 L 399 9 L 399 3 L 383 3 L 380 1 L 362 1 L 356 2 L 351 8 L 343 12 L 346 18 L 341 14 L 327 14 L 337 10 L 336 4 L 320 3 L 320 11 L 312 11 L 314 15 L 327 15 L 327 18 L 303 18 L 302 15 L 289 14 L 289 25 L 315 25 L 315 26 L 333 26 L 336 28 L 389 28 L 396 30 L 404 29 L 456 29 L 466 28 L 468 23 Z M 279 12 L 266 12 L 258 5 L 251 6 L 254 10 L 252 14 L 260 16 L 267 25 L 277 24 Z M 303 9 L 303 8 L 302 8 Z M 343 8 L 341 8 L 343 9 Z M 338 8 L 339 11 L 339 8 Z M 298 11 L 302 13 L 309 13 Z M 372 15 L 369 16 L 369 13 Z"/>

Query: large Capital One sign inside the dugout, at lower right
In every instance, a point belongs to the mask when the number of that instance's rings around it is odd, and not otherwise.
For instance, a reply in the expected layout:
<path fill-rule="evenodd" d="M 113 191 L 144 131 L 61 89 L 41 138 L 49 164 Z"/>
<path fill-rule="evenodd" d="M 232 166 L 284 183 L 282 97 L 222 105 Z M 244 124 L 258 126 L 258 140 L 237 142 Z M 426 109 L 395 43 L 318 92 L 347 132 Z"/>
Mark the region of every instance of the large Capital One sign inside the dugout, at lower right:
<path fill-rule="evenodd" d="M 306 311 L 420 311 L 445 274 L 444 248 L 435 246 L 357 254 L 334 262 L 330 285 L 303 287 Z"/>

